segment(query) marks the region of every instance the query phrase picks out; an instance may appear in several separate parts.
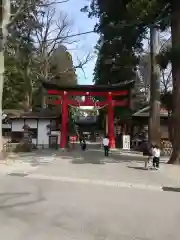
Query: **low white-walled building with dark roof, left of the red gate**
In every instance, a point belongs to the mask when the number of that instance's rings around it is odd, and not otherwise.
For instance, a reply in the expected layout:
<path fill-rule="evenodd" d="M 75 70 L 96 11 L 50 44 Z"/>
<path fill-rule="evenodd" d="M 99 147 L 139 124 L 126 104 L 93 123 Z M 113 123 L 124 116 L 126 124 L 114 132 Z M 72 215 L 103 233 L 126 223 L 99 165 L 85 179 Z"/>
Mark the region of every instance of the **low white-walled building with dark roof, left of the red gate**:
<path fill-rule="evenodd" d="M 60 142 L 60 117 L 49 109 L 40 112 L 23 113 L 20 110 L 4 110 L 7 114 L 3 120 L 2 133 L 5 141 L 20 142 L 23 138 L 24 126 L 29 127 L 32 143 L 38 148 L 49 148 Z"/>

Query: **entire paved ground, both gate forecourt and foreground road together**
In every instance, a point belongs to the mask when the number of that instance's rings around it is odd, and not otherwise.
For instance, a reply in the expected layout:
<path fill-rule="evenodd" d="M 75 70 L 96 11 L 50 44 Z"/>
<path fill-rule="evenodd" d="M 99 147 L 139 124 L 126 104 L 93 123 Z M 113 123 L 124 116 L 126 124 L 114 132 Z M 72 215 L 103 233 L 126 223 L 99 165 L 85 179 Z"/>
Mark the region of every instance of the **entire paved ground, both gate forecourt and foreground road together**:
<path fill-rule="evenodd" d="M 0 234 L 6 240 L 179 240 L 179 168 L 144 171 L 114 152 L 39 152 L 0 168 Z M 170 168 L 172 170 L 172 168 Z M 6 173 L 28 173 L 15 177 Z"/>

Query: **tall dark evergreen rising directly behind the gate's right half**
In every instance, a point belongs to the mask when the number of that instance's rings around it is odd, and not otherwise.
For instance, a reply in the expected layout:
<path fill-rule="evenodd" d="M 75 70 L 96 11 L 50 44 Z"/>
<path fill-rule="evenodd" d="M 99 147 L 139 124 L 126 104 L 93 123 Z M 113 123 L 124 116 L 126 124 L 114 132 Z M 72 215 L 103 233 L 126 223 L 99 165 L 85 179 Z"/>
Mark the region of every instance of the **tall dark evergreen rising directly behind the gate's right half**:
<path fill-rule="evenodd" d="M 101 35 L 94 73 L 96 84 L 118 83 L 136 76 L 146 31 L 143 26 L 134 25 L 128 2 L 131 0 L 97 0 L 91 4 L 91 15 L 99 17 L 96 30 Z"/>

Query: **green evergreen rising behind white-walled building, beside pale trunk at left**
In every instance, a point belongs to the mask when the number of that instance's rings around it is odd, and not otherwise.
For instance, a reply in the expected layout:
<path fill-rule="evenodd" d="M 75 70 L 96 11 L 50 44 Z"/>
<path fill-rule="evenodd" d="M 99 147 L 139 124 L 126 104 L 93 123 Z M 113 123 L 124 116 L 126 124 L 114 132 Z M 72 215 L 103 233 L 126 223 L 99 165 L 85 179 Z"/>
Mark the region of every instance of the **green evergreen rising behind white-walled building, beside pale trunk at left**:
<path fill-rule="evenodd" d="M 17 13 L 21 1 L 11 2 L 11 11 Z M 3 108 L 31 109 L 32 86 L 34 82 L 34 31 L 39 28 L 38 5 L 42 1 L 24 2 L 24 11 L 20 11 L 13 24 L 8 26 L 5 45 L 5 82 L 3 89 Z M 31 5 L 32 4 L 32 5 Z"/>

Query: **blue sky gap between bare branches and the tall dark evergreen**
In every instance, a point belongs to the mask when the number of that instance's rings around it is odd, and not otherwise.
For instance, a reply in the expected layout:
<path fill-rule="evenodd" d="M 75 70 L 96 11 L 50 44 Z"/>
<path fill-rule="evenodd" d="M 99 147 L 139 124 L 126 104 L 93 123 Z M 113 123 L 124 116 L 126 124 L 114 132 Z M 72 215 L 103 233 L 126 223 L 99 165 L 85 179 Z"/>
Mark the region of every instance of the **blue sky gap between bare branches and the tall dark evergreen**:
<path fill-rule="evenodd" d="M 91 31 L 96 24 L 96 19 L 89 19 L 86 13 L 80 12 L 80 9 L 88 3 L 87 0 L 69 0 L 67 3 L 59 5 L 59 9 L 66 12 L 72 21 L 72 33 Z M 76 44 L 68 46 L 76 65 L 78 59 L 83 59 L 88 53 L 93 54 L 94 46 L 97 43 L 98 35 L 95 33 L 78 36 Z M 85 76 L 82 70 L 77 70 L 79 84 L 92 84 L 93 70 L 96 62 L 96 56 L 84 66 Z"/>

